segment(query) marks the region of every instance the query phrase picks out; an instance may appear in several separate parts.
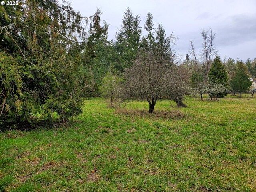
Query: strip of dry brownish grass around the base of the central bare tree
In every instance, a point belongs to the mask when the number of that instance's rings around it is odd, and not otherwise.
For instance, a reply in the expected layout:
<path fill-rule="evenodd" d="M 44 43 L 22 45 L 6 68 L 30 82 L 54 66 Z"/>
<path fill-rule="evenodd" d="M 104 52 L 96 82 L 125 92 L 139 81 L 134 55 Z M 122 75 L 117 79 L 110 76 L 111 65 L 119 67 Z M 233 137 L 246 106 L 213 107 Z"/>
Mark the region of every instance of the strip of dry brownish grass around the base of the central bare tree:
<path fill-rule="evenodd" d="M 155 118 L 184 118 L 184 114 L 178 110 L 154 110 L 153 113 L 149 113 L 147 110 L 128 110 L 124 108 L 116 109 L 115 113 L 131 115 L 131 116 L 140 116 L 140 117 L 155 117 Z"/>

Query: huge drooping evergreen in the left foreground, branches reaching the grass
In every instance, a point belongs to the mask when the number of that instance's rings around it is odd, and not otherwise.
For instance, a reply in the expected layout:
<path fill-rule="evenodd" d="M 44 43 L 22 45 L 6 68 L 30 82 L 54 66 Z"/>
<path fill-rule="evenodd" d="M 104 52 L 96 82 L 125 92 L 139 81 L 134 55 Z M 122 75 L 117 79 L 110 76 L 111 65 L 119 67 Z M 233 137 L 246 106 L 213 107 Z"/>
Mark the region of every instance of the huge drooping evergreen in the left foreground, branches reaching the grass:
<path fill-rule="evenodd" d="M 82 112 L 80 93 L 90 87 L 81 60 L 83 23 L 90 18 L 57 0 L 26 0 L 0 8 L 0 126 L 62 122 Z M 78 39 L 82 40 L 81 44 Z"/>

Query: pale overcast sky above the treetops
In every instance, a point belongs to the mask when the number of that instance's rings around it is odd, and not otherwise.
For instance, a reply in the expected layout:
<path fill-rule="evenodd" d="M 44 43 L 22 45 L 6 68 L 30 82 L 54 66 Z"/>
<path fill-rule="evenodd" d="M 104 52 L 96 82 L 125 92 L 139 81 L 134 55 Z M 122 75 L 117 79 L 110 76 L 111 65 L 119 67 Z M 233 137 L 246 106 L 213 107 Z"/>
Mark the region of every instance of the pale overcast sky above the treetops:
<path fill-rule="evenodd" d="M 162 23 L 166 33 L 174 32 L 176 50 L 186 55 L 190 40 L 198 55 L 202 49 L 201 29 L 212 28 L 216 32 L 215 45 L 222 60 L 240 58 L 246 61 L 256 57 L 256 0 L 68 0 L 82 16 L 92 15 L 97 8 L 103 14 L 102 21 L 109 24 L 109 39 L 115 39 L 121 27 L 127 7 L 133 14 L 140 14 L 140 26 L 146 15 L 152 13 L 155 25 Z M 145 30 L 143 30 L 143 34 Z"/>

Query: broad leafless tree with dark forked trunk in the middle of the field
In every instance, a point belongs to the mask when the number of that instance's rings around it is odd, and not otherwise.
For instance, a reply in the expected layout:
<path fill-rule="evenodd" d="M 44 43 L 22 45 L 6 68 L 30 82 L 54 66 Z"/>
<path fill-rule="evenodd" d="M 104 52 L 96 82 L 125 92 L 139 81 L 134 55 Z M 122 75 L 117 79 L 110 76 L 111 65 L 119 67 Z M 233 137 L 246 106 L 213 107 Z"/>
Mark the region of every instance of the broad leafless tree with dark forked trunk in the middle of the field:
<path fill-rule="evenodd" d="M 156 50 L 140 50 L 134 65 L 126 70 L 126 83 L 121 94 L 122 102 L 130 99 L 147 100 L 149 113 L 154 111 L 157 100 L 170 98 L 177 105 L 184 106 L 185 86 L 179 82 L 166 60 Z M 174 67 L 172 67 L 174 68 Z"/>

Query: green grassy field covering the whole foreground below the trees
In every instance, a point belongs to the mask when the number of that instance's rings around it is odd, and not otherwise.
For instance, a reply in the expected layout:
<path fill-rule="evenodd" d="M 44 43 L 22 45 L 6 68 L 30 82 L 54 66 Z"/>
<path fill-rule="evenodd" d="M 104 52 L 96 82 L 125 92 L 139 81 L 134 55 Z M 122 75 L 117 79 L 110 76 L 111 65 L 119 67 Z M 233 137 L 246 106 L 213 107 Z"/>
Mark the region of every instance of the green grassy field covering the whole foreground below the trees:
<path fill-rule="evenodd" d="M 67 126 L 2 132 L 0 191 L 256 191 L 256 98 L 185 103 L 157 102 L 171 119 L 95 98 Z"/>

